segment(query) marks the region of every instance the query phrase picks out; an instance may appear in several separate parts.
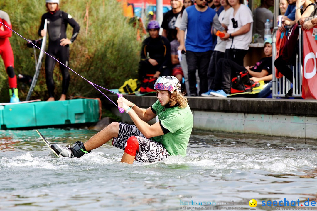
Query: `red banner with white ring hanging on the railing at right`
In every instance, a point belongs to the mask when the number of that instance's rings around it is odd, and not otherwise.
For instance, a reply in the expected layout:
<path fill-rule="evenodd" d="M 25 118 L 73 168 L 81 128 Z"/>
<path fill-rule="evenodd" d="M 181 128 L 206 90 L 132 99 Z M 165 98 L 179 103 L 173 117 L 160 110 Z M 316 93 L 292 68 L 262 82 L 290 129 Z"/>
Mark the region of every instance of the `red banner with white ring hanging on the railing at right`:
<path fill-rule="evenodd" d="M 315 30 L 314 30 L 315 29 Z M 317 99 L 317 28 L 303 31 L 303 85 L 302 97 L 304 99 Z M 314 35 L 313 35 L 314 31 Z"/>

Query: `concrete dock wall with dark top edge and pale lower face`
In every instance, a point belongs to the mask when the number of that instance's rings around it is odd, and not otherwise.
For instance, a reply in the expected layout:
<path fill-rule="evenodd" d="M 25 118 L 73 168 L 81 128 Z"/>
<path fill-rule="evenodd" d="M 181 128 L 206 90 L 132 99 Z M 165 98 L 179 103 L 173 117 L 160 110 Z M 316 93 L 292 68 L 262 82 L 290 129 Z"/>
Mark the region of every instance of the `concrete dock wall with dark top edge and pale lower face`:
<path fill-rule="evenodd" d="M 117 96 L 111 97 L 116 101 Z M 125 97 L 141 108 L 148 108 L 157 100 L 156 96 Z M 261 134 L 308 142 L 317 139 L 315 100 L 188 97 L 188 101 L 194 116 L 194 131 Z M 116 110 L 113 108 L 122 121 L 131 123 L 129 115 Z"/>

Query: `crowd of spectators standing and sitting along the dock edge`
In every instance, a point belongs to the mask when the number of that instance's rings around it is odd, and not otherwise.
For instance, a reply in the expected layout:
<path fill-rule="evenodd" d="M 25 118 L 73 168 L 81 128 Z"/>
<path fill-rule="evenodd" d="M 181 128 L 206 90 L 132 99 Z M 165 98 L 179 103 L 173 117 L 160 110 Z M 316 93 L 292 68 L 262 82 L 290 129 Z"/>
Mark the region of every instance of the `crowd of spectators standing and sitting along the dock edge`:
<path fill-rule="evenodd" d="M 161 26 L 153 20 L 147 26 L 150 36 L 143 42 L 139 62 L 141 93 L 153 91 L 156 78 L 172 75 L 187 96 L 268 97 L 275 74 L 272 58 L 278 73 L 292 81 L 288 65 L 295 65 L 299 30 L 317 26 L 314 0 L 280 0 L 277 55 L 272 57 L 272 6 L 274 0 L 261 0 L 252 13 L 243 0 L 171 0 L 172 9 Z M 243 66 L 250 43 L 262 43 L 265 56 L 253 66 Z"/>

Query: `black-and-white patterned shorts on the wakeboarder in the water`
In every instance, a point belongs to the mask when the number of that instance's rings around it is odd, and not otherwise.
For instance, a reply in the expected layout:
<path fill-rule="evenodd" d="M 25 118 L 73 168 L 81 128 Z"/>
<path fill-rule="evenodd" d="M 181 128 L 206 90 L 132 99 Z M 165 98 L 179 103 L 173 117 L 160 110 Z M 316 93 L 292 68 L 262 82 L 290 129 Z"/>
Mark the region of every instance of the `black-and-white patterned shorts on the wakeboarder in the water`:
<path fill-rule="evenodd" d="M 126 141 L 131 136 L 135 136 L 139 141 L 139 152 L 135 154 L 136 161 L 151 163 L 170 156 L 162 144 L 145 138 L 135 125 L 126 123 L 119 123 L 118 138 L 113 138 L 112 145 L 124 150 Z"/>

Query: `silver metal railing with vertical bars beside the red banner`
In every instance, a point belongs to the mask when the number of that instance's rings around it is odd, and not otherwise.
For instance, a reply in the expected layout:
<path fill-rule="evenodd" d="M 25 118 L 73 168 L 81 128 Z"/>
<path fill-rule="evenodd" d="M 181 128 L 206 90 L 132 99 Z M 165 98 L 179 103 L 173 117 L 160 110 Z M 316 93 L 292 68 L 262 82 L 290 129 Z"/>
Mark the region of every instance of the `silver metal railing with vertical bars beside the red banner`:
<path fill-rule="evenodd" d="M 282 78 L 275 77 L 275 66 L 274 61 L 276 57 L 276 33 L 278 27 L 273 29 L 273 42 L 272 42 L 272 67 L 273 70 L 273 84 L 272 84 L 272 97 L 285 97 L 285 94 L 288 93 L 293 87 L 292 97 L 301 97 L 301 86 L 302 86 L 302 78 L 303 78 L 303 58 L 302 58 L 302 30 L 299 25 L 299 54 L 296 54 L 296 65 L 289 65 L 289 68 L 293 71 L 293 80 L 289 81 L 284 76 Z M 281 54 L 280 54 L 281 56 Z"/>

